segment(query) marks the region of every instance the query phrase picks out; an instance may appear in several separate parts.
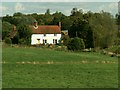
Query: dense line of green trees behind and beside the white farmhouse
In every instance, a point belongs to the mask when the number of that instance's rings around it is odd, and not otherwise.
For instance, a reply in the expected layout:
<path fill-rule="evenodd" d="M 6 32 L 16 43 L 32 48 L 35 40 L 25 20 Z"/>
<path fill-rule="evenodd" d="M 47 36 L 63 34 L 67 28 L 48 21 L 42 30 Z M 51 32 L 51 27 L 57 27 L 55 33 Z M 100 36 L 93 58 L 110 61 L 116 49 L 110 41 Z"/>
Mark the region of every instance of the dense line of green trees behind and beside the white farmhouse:
<path fill-rule="evenodd" d="M 73 8 L 69 16 L 58 11 L 51 14 L 49 9 L 45 14 L 26 15 L 18 12 L 13 16 L 6 15 L 2 17 L 2 39 L 4 40 L 11 32 L 13 25 L 22 31 L 24 27 L 20 28 L 20 26 L 32 25 L 34 20 L 38 22 L 38 25 L 58 25 L 61 22 L 61 29 L 68 30 L 69 34 L 69 37 L 62 37 L 64 45 L 69 45 L 69 40 L 75 37 L 83 40 L 85 48 L 107 48 L 118 45 L 118 41 L 120 41 L 120 28 L 117 28 L 120 26 L 120 14 L 113 17 L 104 11 L 83 13 L 82 9 L 78 10 L 77 8 Z M 21 36 L 19 35 L 19 37 Z"/>

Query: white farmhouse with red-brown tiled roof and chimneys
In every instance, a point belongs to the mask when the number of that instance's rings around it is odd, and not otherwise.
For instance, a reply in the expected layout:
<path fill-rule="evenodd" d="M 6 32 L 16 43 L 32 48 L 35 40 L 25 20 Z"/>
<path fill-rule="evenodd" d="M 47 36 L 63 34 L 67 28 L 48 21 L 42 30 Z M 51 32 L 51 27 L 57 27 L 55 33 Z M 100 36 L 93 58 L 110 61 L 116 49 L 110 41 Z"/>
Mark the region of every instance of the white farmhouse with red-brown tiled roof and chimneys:
<path fill-rule="evenodd" d="M 43 25 L 38 26 L 37 22 L 34 22 L 31 36 L 31 45 L 36 44 L 56 44 L 59 43 L 61 38 L 61 25 Z"/>

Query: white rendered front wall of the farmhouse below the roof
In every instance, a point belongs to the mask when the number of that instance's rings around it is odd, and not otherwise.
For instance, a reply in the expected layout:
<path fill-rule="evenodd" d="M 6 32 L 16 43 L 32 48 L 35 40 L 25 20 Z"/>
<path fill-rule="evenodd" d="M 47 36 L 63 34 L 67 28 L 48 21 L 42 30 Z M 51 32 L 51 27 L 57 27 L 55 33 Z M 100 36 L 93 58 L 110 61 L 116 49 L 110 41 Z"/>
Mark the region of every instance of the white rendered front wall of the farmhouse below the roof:
<path fill-rule="evenodd" d="M 59 43 L 60 38 L 61 34 L 57 34 L 56 36 L 54 34 L 46 34 L 46 36 L 44 34 L 32 34 L 31 45 L 38 44 L 37 39 L 40 39 L 40 44 L 43 44 L 43 39 L 46 39 L 48 44 L 53 44 L 53 39 L 57 39 L 57 43 Z"/>

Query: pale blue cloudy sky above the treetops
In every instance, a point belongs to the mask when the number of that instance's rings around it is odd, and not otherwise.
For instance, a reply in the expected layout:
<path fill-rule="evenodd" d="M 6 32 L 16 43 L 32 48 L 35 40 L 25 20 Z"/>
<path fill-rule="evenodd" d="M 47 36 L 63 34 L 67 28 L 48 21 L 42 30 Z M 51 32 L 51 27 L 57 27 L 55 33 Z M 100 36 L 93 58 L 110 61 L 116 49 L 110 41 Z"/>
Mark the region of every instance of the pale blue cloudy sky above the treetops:
<path fill-rule="evenodd" d="M 25 1 L 25 2 L 24 2 Z M 65 15 L 70 15 L 72 8 L 76 7 L 78 9 L 83 9 L 84 12 L 100 12 L 101 10 L 107 11 L 115 15 L 118 13 L 118 0 L 71 0 L 74 2 L 68 2 L 70 0 L 8 0 L 2 1 L 0 4 L 1 16 L 9 14 L 13 15 L 15 12 L 28 13 L 45 13 L 47 9 L 50 9 L 51 13 L 60 11 Z M 34 1 L 34 2 L 33 2 Z M 44 1 L 44 2 L 43 2 Z M 45 2 L 46 1 L 46 2 Z M 51 1 L 51 2 L 50 2 Z M 111 1 L 111 2 L 110 2 Z M 114 2 L 112 2 L 114 1 Z"/>

